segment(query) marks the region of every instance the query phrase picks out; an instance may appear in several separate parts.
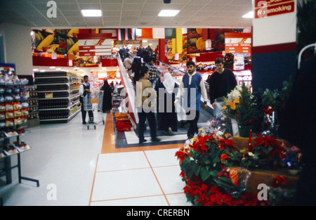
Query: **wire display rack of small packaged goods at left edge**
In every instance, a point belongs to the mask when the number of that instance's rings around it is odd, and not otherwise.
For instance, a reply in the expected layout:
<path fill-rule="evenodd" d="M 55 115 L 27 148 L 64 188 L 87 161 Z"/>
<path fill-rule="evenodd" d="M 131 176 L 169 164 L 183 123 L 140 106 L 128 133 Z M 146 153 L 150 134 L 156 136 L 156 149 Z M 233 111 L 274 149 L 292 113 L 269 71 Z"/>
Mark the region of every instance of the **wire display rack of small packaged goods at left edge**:
<path fill-rule="evenodd" d="M 11 169 L 18 168 L 18 180 L 39 181 L 22 176 L 20 153 L 31 148 L 20 136 L 27 133 L 27 116 L 29 115 L 27 102 L 27 80 L 20 80 L 14 71 L 1 70 L 0 75 L 0 176 L 6 176 L 6 184 L 12 182 Z M 15 139 L 15 140 L 14 140 Z M 11 157 L 17 155 L 18 164 L 11 166 Z M 0 198 L 3 205 L 3 199 Z"/>

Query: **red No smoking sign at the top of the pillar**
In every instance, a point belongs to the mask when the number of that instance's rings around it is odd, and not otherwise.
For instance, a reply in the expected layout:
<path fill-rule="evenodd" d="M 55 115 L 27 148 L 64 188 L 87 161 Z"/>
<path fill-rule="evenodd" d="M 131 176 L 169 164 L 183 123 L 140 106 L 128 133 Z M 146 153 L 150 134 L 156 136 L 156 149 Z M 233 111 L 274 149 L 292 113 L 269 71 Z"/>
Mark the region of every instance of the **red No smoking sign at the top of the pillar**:
<path fill-rule="evenodd" d="M 294 12 L 294 0 L 270 0 L 270 1 L 255 1 L 255 18 L 267 18 L 274 15 L 282 15 L 285 13 Z"/>

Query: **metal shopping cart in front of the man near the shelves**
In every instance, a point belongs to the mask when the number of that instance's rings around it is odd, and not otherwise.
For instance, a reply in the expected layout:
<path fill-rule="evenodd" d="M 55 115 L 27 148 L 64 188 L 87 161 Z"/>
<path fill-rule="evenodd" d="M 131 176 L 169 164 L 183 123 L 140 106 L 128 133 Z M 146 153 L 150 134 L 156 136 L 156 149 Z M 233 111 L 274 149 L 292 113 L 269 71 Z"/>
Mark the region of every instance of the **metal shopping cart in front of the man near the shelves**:
<path fill-rule="evenodd" d="M 89 129 L 91 125 L 93 125 L 94 129 L 96 129 L 96 125 L 103 122 L 105 124 L 105 120 L 103 117 L 103 91 L 98 91 L 97 93 L 88 93 L 84 96 L 84 106 L 85 111 L 96 111 L 96 114 L 93 113 L 93 117 L 89 117 L 88 123 L 86 123 L 86 128 Z"/>

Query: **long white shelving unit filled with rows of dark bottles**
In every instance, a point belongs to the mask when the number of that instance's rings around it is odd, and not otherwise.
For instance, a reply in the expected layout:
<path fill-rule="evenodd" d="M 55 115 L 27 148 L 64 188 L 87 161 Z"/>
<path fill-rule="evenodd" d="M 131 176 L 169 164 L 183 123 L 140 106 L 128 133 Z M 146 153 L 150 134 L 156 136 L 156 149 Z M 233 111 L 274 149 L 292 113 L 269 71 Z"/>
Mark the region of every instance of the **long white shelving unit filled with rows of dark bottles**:
<path fill-rule="evenodd" d="M 69 122 L 80 112 L 80 77 L 70 72 L 34 72 L 41 124 Z"/>

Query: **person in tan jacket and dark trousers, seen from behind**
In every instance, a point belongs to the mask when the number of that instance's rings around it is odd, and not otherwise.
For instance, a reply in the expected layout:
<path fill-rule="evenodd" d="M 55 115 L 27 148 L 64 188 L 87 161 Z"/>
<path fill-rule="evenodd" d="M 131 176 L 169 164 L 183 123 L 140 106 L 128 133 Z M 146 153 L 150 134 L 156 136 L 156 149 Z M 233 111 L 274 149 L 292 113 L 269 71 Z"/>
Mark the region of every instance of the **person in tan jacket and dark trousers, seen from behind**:
<path fill-rule="evenodd" d="M 145 120 L 147 118 L 150 126 L 150 136 L 152 141 L 160 141 L 157 138 L 157 123 L 154 117 L 154 108 L 152 101 L 157 97 L 156 91 L 148 81 L 149 72 L 146 66 L 140 70 L 140 79 L 136 83 L 136 107 L 138 111 L 138 138 L 139 143 L 146 142 L 144 138 Z"/>

